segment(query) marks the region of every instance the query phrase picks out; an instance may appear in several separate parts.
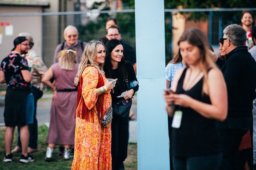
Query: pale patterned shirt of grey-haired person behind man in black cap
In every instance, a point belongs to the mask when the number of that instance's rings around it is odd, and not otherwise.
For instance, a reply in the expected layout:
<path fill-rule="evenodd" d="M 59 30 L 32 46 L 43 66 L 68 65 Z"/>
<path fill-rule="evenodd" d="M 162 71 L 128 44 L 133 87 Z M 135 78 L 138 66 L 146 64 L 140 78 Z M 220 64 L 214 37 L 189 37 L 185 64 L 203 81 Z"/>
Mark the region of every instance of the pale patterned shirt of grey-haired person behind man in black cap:
<path fill-rule="evenodd" d="M 47 71 L 46 65 L 34 50 L 28 51 L 26 59 L 28 61 L 28 67 L 31 68 L 32 73 L 31 85 L 43 91 L 46 89 L 46 85 L 41 82 L 41 76 Z"/>

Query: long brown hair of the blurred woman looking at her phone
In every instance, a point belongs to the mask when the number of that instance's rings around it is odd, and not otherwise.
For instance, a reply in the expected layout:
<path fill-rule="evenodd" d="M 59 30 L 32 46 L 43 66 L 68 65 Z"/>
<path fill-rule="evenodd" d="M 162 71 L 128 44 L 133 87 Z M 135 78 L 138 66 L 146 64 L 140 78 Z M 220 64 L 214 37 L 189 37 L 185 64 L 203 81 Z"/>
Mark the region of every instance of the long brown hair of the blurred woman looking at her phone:
<path fill-rule="evenodd" d="M 209 54 L 209 43 L 204 35 L 204 33 L 198 29 L 198 28 L 188 28 L 185 30 L 180 37 L 180 40 L 178 41 L 178 45 L 180 45 L 180 42 L 182 41 L 188 41 L 189 44 L 197 46 L 200 49 L 200 59 L 199 59 L 199 66 L 204 73 L 204 79 L 203 79 L 203 87 L 208 91 L 208 70 L 209 68 L 217 68 L 215 63 L 213 62 L 212 58 Z M 189 65 L 185 62 L 186 66 L 189 67 Z M 203 88 L 204 89 L 204 88 Z M 203 91 L 202 91 L 203 92 Z"/>

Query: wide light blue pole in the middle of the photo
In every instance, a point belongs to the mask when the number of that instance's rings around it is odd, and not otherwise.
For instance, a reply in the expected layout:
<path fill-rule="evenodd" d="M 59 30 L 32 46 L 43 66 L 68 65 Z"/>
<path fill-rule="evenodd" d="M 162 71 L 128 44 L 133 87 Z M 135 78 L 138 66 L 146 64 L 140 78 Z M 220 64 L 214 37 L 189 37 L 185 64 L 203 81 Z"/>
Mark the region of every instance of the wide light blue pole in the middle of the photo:
<path fill-rule="evenodd" d="M 139 170 L 169 169 L 164 22 L 164 0 L 135 0 Z"/>

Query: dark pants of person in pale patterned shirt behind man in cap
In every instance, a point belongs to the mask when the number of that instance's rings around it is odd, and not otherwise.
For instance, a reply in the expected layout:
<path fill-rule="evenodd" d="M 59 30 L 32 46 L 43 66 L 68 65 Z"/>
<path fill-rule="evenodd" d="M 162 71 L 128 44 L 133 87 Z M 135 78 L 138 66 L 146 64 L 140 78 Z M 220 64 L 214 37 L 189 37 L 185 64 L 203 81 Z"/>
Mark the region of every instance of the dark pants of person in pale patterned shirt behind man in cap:
<path fill-rule="evenodd" d="M 37 100 L 43 96 L 43 91 L 37 89 L 36 87 L 31 87 L 32 94 L 34 96 L 34 122 L 33 124 L 28 125 L 29 129 L 29 144 L 28 147 L 37 149 Z M 17 146 L 21 147 L 20 135 L 18 134 L 18 144 Z"/>

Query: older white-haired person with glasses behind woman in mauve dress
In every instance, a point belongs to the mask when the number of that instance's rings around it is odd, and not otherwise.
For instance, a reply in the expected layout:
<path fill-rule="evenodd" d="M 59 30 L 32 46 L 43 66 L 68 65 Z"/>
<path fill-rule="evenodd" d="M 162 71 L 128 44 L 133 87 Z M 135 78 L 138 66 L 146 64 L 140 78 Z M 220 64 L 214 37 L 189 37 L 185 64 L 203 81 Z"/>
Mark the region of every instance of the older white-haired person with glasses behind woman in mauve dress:
<path fill-rule="evenodd" d="M 84 48 L 86 46 L 86 42 L 78 40 L 78 30 L 75 26 L 67 26 L 64 30 L 63 37 L 65 39 L 65 42 L 59 44 L 54 52 L 54 59 L 53 62 L 58 62 L 58 55 L 59 52 L 67 47 L 73 47 L 76 49 L 76 57 L 78 63 L 80 63 L 82 52 L 84 51 Z"/>

